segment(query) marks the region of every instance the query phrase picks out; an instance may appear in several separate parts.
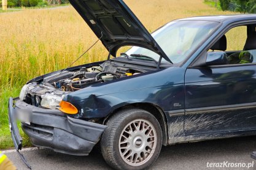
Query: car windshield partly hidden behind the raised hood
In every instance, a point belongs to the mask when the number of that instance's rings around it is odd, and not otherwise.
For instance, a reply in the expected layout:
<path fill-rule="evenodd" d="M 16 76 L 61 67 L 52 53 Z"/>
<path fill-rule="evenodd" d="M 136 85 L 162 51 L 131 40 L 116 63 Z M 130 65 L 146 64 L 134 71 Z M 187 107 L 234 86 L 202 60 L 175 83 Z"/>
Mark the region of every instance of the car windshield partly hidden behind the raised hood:
<path fill-rule="evenodd" d="M 173 63 L 179 63 L 184 61 L 218 25 L 219 23 L 214 21 L 173 21 L 153 32 L 152 37 Z M 133 46 L 126 54 L 138 59 L 148 60 L 151 57 L 157 61 L 160 57 L 157 53 L 139 46 Z M 167 61 L 162 59 L 162 62 Z"/>

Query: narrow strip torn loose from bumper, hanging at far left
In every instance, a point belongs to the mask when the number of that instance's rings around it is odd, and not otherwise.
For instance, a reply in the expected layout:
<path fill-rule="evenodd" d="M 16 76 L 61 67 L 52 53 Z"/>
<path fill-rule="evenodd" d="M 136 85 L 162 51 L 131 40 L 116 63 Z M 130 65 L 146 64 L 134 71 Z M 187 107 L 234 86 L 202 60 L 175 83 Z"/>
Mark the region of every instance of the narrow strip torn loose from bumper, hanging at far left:
<path fill-rule="evenodd" d="M 18 131 L 17 122 L 14 115 L 14 100 L 13 98 L 9 98 L 9 126 L 10 126 L 10 134 L 12 136 L 12 141 L 14 142 L 14 147 L 17 150 L 18 155 L 20 156 L 21 160 L 31 169 L 31 166 L 26 161 L 25 157 L 20 153 L 22 147 L 22 138 L 20 136 L 20 131 Z"/>

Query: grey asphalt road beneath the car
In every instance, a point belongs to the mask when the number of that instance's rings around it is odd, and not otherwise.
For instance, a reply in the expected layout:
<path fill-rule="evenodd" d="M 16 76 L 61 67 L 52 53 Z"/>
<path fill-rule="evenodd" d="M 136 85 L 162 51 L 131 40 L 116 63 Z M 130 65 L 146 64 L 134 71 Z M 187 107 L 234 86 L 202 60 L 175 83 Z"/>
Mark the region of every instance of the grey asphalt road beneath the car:
<path fill-rule="evenodd" d="M 248 169 L 207 168 L 209 163 L 252 163 L 250 153 L 256 150 L 256 136 L 219 139 L 162 147 L 160 157 L 150 169 Z M 18 169 L 27 169 L 16 152 L 5 151 Z M 53 152 L 48 149 L 21 151 L 33 169 L 111 169 L 104 162 L 98 149 L 89 156 L 77 157 Z M 256 160 L 254 161 L 256 169 Z M 220 165 L 219 165 L 220 166 Z"/>

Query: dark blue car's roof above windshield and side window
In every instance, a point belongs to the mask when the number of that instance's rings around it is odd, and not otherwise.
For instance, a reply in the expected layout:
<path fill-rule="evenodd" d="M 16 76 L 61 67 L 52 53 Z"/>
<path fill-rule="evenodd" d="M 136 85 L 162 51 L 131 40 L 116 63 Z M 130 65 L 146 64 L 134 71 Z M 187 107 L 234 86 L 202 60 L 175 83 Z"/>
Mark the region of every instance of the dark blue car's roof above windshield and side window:
<path fill-rule="evenodd" d="M 200 17 L 191 17 L 183 18 L 175 21 L 216 21 L 216 22 L 227 22 L 233 23 L 235 21 L 244 21 L 244 20 L 256 20 L 256 14 L 242 14 L 242 15 L 211 15 L 211 16 L 200 16 Z"/>

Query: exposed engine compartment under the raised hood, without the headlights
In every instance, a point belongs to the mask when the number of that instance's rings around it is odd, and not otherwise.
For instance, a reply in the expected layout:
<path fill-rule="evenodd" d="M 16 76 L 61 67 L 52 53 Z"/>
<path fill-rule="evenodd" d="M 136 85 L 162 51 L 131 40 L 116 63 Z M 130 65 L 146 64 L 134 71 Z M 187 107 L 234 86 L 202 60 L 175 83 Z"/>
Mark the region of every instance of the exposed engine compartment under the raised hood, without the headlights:
<path fill-rule="evenodd" d="M 134 68 L 120 67 L 111 61 L 106 61 L 98 66 L 81 67 L 73 72 L 64 71 L 57 75 L 48 76 L 44 78 L 41 84 L 61 89 L 65 92 L 74 92 L 95 83 L 111 81 L 139 73 L 141 71 L 134 70 Z"/>

